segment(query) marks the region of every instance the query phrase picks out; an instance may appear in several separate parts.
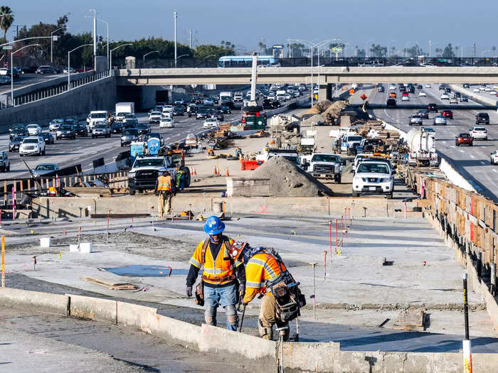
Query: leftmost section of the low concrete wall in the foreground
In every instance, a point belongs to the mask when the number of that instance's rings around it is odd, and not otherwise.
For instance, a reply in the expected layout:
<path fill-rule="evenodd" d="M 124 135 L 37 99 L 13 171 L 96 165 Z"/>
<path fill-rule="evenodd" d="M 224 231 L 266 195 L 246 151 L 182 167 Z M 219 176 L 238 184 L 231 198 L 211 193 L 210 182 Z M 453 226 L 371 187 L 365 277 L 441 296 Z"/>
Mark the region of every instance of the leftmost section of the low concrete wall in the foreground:
<path fill-rule="evenodd" d="M 0 288 L 0 299 L 0 304 L 5 306 L 28 306 L 49 310 L 58 315 L 68 315 L 69 297 L 67 295 L 16 288 Z"/>

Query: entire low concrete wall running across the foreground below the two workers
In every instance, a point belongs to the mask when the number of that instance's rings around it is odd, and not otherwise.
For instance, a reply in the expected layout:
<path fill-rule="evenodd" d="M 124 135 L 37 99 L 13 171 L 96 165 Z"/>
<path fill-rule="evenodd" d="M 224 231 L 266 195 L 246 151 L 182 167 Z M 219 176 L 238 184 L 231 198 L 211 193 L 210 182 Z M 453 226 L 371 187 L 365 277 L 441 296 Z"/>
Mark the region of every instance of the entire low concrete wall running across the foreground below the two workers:
<path fill-rule="evenodd" d="M 192 325 L 157 314 L 156 308 L 85 296 L 59 296 L 14 288 L 0 289 L 0 304 L 65 310 L 70 315 L 136 327 L 157 337 L 173 338 L 201 352 L 233 355 L 255 363 L 253 371 L 275 372 L 280 363 L 277 342 L 216 328 Z M 81 310 L 85 310 L 81 313 Z M 283 345 L 285 369 L 307 372 L 462 372 L 460 353 L 341 351 L 339 343 L 289 342 Z M 476 372 L 494 372 L 498 354 L 473 354 Z"/>

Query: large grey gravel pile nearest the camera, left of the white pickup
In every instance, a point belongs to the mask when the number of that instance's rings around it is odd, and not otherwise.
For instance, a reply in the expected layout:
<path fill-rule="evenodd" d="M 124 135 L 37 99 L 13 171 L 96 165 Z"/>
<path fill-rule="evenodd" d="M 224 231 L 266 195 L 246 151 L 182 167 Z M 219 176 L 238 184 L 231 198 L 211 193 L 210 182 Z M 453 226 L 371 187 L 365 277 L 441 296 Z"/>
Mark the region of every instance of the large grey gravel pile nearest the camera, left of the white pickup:
<path fill-rule="evenodd" d="M 321 197 L 332 190 L 282 156 L 270 158 L 253 173 L 270 178 L 270 197 Z"/>

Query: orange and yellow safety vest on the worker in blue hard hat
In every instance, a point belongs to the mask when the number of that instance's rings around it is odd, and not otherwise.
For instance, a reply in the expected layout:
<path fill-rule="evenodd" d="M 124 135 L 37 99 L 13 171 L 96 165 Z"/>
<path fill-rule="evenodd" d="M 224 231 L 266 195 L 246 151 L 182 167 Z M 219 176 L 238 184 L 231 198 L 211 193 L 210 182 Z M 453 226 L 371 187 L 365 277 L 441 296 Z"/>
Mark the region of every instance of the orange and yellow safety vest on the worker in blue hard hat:
<path fill-rule="evenodd" d="M 231 260 L 228 248 L 233 244 L 233 239 L 223 236 L 218 256 L 213 258 L 209 249 L 209 239 L 200 242 L 190 259 L 190 264 L 197 268 L 203 268 L 202 279 L 213 285 L 223 285 L 235 280 L 235 269 L 242 264 L 241 261 Z"/>

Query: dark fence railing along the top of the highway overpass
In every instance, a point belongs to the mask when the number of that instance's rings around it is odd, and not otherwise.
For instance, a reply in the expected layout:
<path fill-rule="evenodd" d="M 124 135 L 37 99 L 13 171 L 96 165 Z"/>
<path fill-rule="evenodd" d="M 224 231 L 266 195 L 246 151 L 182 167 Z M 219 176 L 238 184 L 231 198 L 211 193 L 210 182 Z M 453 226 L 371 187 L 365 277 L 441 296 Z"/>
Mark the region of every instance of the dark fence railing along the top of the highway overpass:
<path fill-rule="evenodd" d="M 326 53 L 328 54 L 328 53 Z M 228 56 L 229 57 L 229 56 Z M 423 58 L 403 58 L 403 57 L 324 57 L 314 55 L 310 57 L 295 57 L 295 58 L 274 58 L 272 66 L 277 67 L 305 67 L 317 66 L 318 64 L 325 67 L 331 66 L 364 66 L 364 67 L 381 67 L 381 66 L 438 66 L 438 67 L 494 67 L 498 66 L 498 58 L 441 58 L 441 57 L 423 57 Z M 259 62 L 261 65 L 265 63 Z M 220 65 L 218 58 L 148 58 L 142 60 L 142 56 L 137 56 L 137 60 L 132 65 L 127 65 L 124 59 L 118 59 L 113 66 L 120 69 L 153 69 L 153 68 L 192 68 L 192 67 L 251 67 L 252 60 L 238 62 L 228 62 Z"/>

